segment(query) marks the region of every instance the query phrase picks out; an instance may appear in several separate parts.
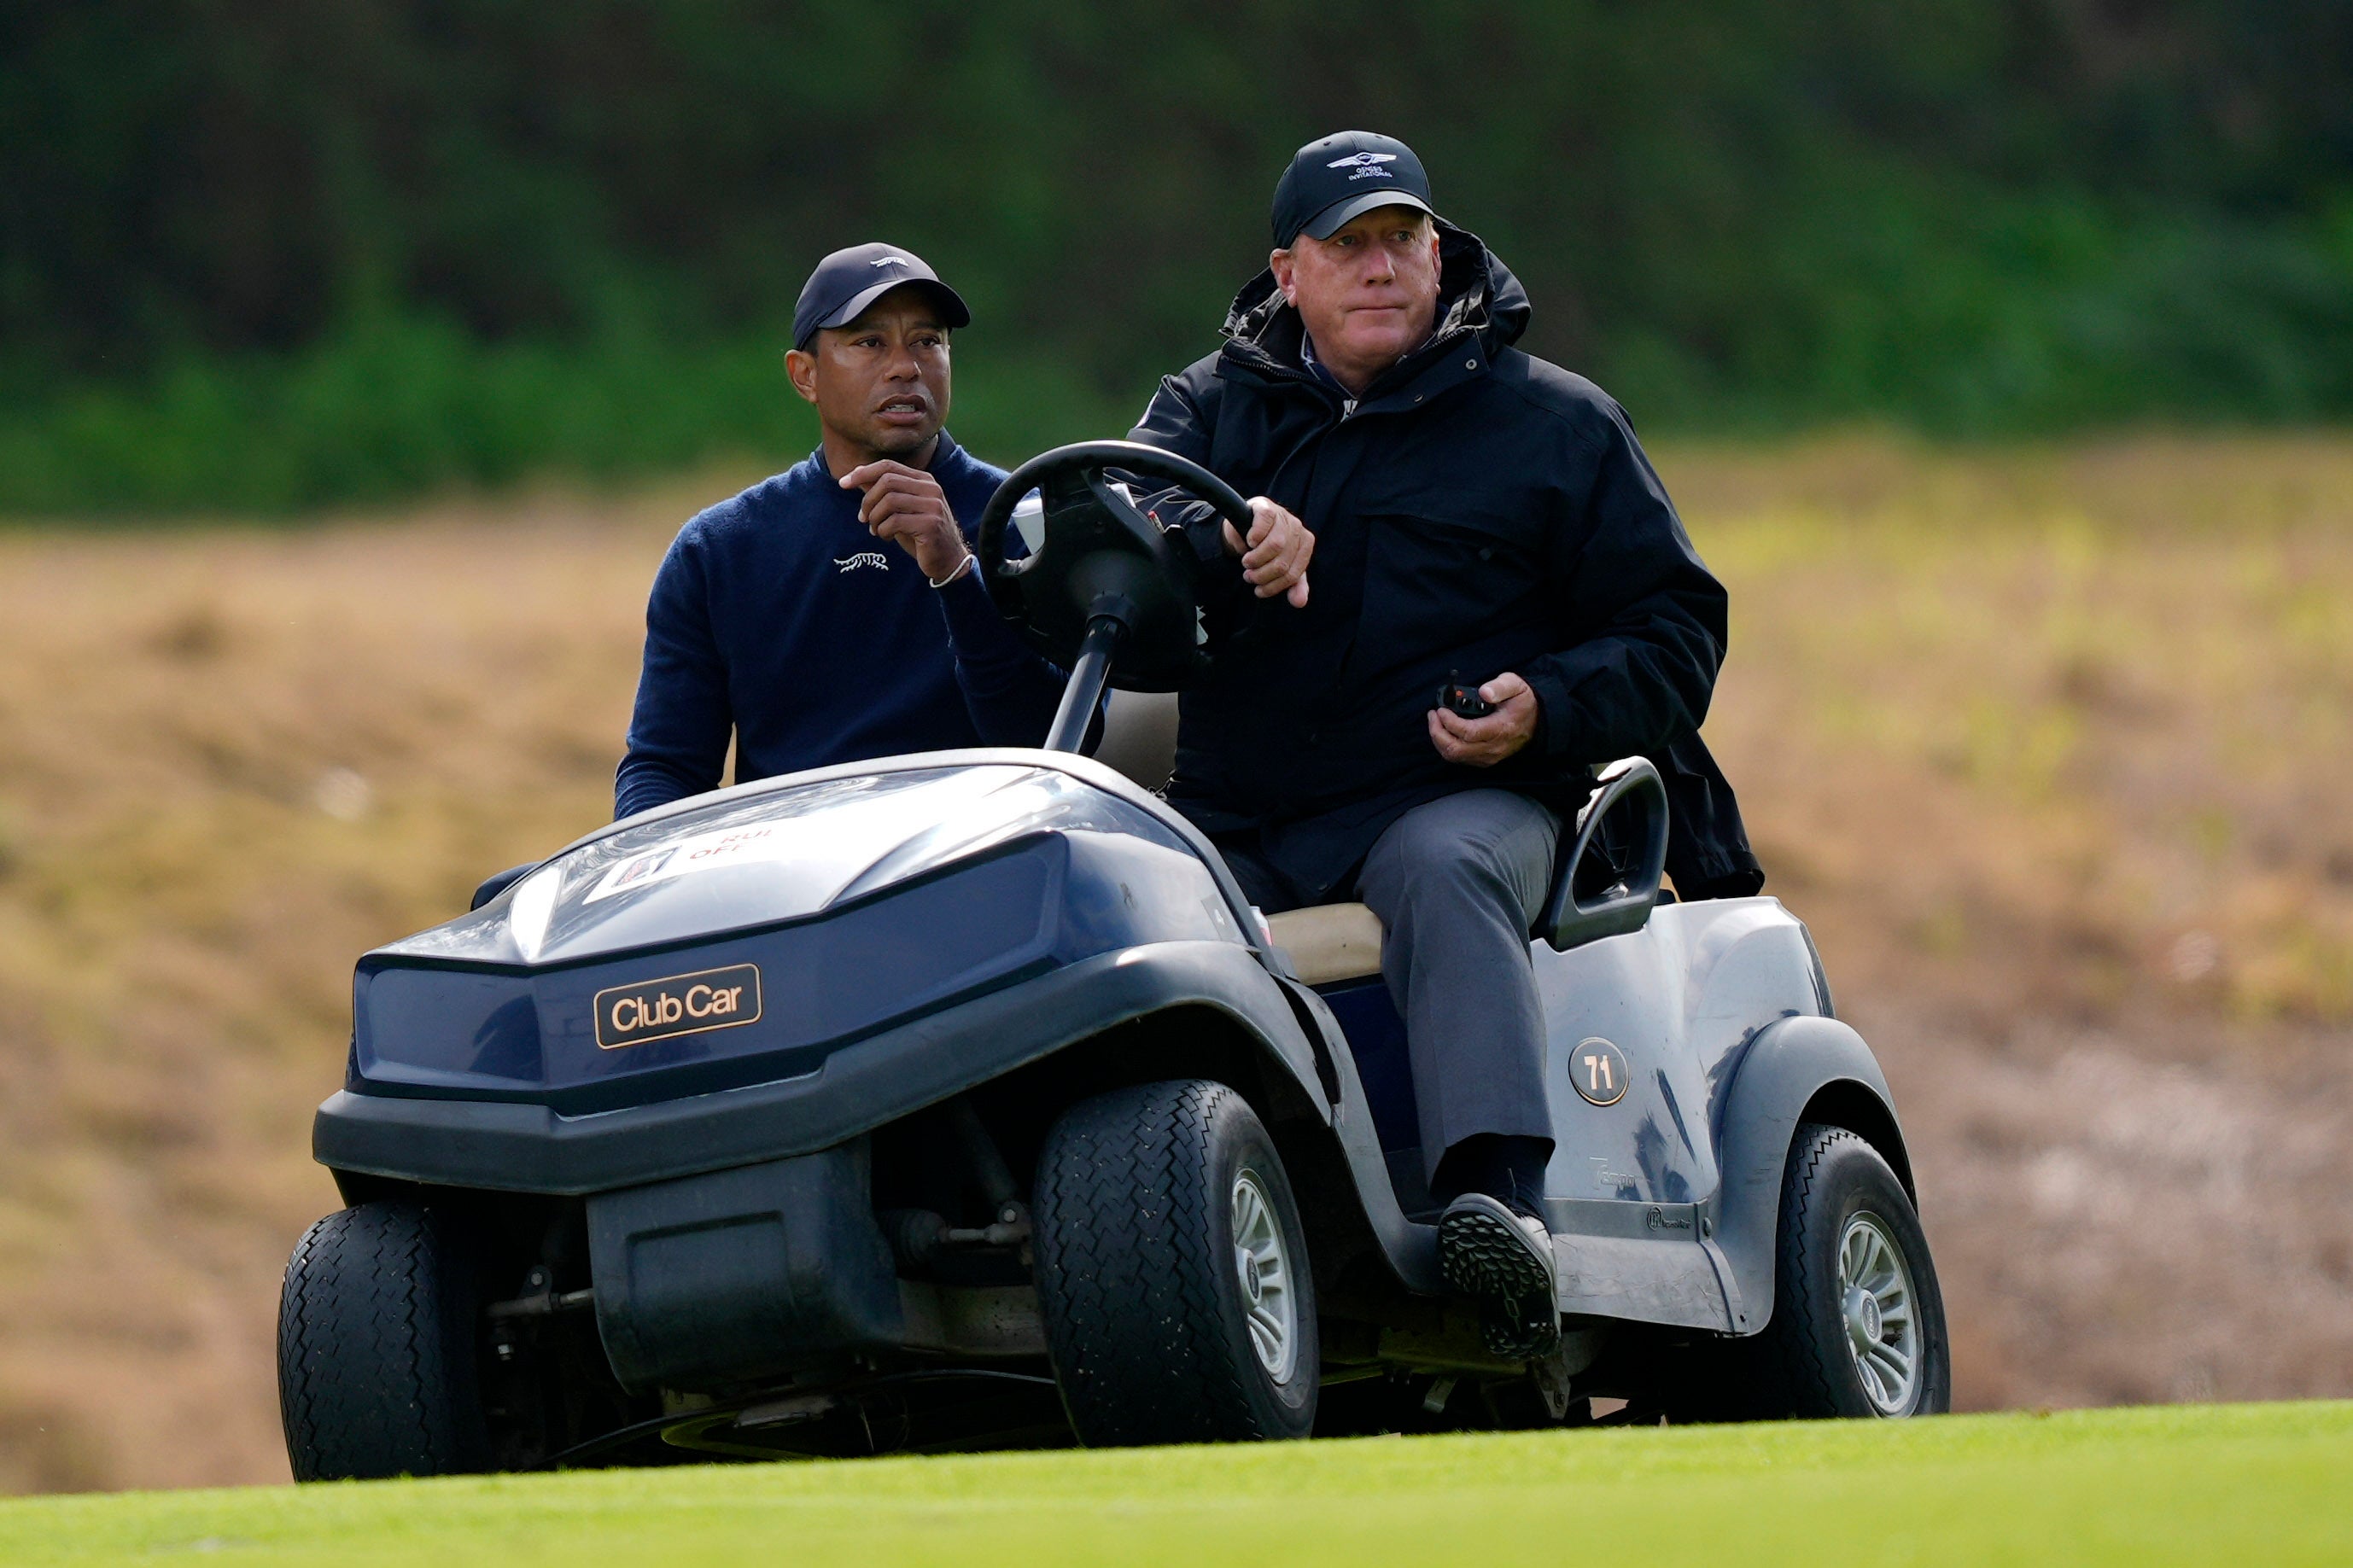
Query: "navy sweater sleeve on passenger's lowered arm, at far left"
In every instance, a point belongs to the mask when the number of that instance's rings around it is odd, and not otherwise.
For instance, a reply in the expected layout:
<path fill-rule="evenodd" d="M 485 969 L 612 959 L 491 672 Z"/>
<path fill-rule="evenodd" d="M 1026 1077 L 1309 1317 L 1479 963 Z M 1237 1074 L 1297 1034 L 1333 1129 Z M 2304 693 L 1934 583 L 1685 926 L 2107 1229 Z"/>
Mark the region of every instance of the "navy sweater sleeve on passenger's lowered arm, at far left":
<path fill-rule="evenodd" d="M 612 780 L 614 818 L 715 790 L 732 733 L 727 661 L 711 628 L 701 534 L 687 527 L 661 557 L 645 604 L 645 668 L 628 752 Z"/>

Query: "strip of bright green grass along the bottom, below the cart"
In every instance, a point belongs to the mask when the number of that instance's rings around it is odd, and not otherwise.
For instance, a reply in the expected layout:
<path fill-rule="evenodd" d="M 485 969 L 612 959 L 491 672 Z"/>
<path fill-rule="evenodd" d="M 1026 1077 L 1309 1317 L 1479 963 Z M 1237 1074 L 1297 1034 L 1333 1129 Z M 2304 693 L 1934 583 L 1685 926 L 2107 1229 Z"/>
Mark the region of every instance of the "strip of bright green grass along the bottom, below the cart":
<path fill-rule="evenodd" d="M 2353 1403 L 0 1502 L 0 1561 L 2344 1563 Z"/>

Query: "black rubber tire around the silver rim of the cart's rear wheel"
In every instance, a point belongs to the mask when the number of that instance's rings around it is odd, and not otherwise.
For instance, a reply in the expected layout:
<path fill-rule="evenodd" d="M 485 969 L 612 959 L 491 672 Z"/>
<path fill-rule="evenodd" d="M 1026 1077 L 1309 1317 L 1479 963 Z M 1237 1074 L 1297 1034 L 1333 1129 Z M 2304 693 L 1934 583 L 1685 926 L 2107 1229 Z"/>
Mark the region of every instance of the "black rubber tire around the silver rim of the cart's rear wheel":
<path fill-rule="evenodd" d="M 1894 1378 L 1882 1385 L 1889 1394 L 1901 1392 L 1901 1399 L 1892 1401 L 1875 1399 L 1866 1387 L 1861 1361 L 1871 1354 L 1849 1340 L 1840 1246 L 1849 1244 L 1849 1229 L 1859 1225 L 1873 1225 L 1911 1276 L 1918 1347 L 1908 1361 L 1915 1373 L 1908 1389 L 1899 1389 Z M 1854 1244 L 1866 1251 L 1873 1246 L 1859 1232 Z M 1880 1324 L 1878 1298 L 1871 1324 Z M 1857 1133 L 1838 1126 L 1798 1126 L 1781 1175 L 1772 1321 L 1765 1333 L 1737 1342 L 1737 1366 L 1746 1373 L 1744 1403 L 1767 1420 L 1941 1415 L 1953 1406 L 1944 1293 L 1937 1288 L 1937 1265 L 1920 1232 L 1920 1215 L 1904 1197 L 1897 1173 Z"/>

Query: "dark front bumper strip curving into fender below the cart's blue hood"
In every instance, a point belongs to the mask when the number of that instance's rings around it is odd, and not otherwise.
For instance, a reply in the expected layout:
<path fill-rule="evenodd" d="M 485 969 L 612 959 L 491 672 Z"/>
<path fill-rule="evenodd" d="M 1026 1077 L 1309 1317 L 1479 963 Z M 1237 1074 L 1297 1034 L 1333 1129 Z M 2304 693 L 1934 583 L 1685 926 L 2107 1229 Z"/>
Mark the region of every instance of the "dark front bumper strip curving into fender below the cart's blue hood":
<path fill-rule="evenodd" d="M 1179 1006 L 1226 1013 L 1329 1117 L 1315 1051 L 1282 990 L 1233 943 L 1155 943 L 1082 959 L 1016 987 L 840 1046 L 791 1079 L 586 1117 L 546 1105 L 339 1091 L 313 1121 L 313 1154 L 449 1187 L 588 1194 L 814 1154 L 1040 1060 Z"/>

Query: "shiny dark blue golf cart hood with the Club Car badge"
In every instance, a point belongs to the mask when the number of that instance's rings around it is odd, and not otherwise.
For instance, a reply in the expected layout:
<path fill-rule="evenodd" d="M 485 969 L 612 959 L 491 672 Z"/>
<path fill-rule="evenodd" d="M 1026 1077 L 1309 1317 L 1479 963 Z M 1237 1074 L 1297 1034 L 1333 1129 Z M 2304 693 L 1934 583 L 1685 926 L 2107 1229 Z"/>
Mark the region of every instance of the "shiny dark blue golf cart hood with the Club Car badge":
<path fill-rule="evenodd" d="M 814 1072 L 1101 952 L 1242 945 L 1247 905 L 1212 865 L 1134 785 L 1042 752 L 704 795 L 360 959 L 348 1088 L 584 1114 Z"/>

